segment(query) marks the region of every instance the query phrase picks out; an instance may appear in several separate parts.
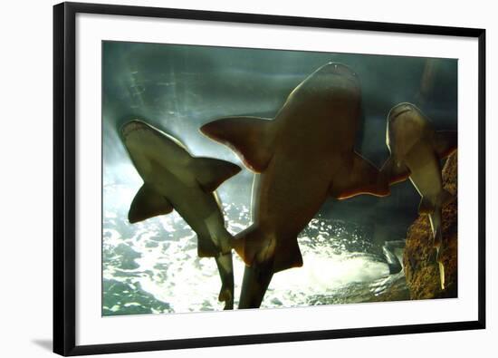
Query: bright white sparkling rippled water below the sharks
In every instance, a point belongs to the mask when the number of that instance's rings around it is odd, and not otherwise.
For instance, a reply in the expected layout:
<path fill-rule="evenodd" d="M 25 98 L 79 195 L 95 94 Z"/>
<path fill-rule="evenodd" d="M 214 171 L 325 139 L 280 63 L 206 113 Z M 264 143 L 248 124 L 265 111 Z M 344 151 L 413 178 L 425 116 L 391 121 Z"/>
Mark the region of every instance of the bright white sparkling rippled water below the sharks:
<path fill-rule="evenodd" d="M 104 188 L 106 198 L 128 202 L 134 191 Z M 225 204 L 232 234 L 250 223 L 249 208 Z M 223 309 L 220 279 L 212 258 L 197 257 L 196 234 L 176 212 L 130 225 L 127 207 L 104 212 L 103 314 L 148 314 Z M 275 274 L 263 308 L 367 302 L 388 289 L 407 299 L 403 272 L 389 276 L 381 248 L 360 227 L 313 218 L 298 238 L 304 265 Z M 401 253 L 397 256 L 401 259 Z M 244 263 L 234 255 L 235 305 Z"/>

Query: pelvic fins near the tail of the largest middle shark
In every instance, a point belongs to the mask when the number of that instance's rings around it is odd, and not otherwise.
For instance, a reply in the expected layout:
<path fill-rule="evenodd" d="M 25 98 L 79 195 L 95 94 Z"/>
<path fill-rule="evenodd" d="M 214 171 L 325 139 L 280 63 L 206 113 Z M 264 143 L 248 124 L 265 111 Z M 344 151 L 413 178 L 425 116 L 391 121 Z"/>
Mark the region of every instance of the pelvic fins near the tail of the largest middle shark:
<path fill-rule="evenodd" d="M 276 237 L 263 233 L 258 227 L 246 228 L 233 240 L 235 252 L 246 266 L 271 263 L 273 273 L 302 266 L 302 255 L 297 237 L 282 245 Z"/>

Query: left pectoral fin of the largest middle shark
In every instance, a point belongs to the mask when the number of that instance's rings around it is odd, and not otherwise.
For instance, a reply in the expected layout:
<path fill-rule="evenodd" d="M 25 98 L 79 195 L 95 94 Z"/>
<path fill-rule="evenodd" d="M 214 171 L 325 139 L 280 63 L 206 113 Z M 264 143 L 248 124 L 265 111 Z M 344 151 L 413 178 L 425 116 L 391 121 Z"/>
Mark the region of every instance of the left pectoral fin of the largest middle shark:
<path fill-rule="evenodd" d="M 258 117 L 227 117 L 205 124 L 200 131 L 230 147 L 247 168 L 259 173 L 272 158 L 272 122 Z"/>

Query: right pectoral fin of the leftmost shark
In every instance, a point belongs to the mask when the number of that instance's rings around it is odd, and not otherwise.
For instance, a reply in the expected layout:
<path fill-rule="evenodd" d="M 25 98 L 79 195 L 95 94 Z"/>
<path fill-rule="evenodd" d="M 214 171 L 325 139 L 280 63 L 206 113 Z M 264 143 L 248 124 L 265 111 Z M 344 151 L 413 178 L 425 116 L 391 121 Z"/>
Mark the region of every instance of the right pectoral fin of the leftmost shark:
<path fill-rule="evenodd" d="M 233 177 L 241 168 L 229 161 L 197 157 L 192 161 L 196 179 L 206 192 L 215 191 L 226 179 Z"/>

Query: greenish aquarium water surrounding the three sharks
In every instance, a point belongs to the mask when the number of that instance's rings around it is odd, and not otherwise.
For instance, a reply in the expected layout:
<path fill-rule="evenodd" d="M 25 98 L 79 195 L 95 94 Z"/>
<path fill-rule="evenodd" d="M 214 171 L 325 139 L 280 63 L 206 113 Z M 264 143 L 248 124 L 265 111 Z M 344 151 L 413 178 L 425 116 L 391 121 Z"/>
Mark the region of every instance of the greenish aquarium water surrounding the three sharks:
<path fill-rule="evenodd" d="M 236 234 L 251 222 L 253 174 L 198 128 L 228 115 L 272 118 L 292 89 L 329 61 L 346 63 L 359 75 L 363 118 L 355 148 L 374 164 L 388 158 L 386 116 L 398 102 L 418 104 L 436 129 L 455 130 L 452 59 L 104 42 L 103 315 L 223 309 L 215 260 L 197 257 L 196 234 L 176 211 L 129 224 L 129 205 L 142 180 L 120 140 L 120 126 L 148 121 L 195 156 L 241 166 L 218 189 L 226 227 Z M 393 187 L 388 198 L 327 200 L 298 237 L 304 265 L 274 275 L 262 307 L 382 301 L 386 293 L 389 300 L 407 299 L 404 273 L 389 275 L 382 246 L 405 238 L 419 200 L 409 182 Z M 402 250 L 396 254 L 401 257 Z M 244 273 L 236 254 L 234 266 L 236 306 Z"/>

